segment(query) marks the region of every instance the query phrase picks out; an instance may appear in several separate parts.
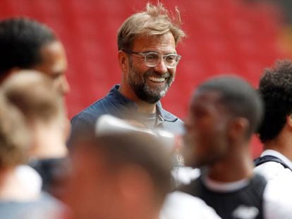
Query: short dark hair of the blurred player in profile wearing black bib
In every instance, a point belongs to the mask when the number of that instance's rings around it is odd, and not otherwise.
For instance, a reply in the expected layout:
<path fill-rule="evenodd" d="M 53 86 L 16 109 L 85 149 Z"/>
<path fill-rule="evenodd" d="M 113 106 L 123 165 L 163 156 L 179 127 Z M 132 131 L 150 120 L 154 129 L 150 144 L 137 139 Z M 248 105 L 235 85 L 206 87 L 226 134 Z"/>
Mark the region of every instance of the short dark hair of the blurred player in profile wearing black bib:
<path fill-rule="evenodd" d="M 236 117 L 246 118 L 250 123 L 246 137 L 250 137 L 262 121 L 263 104 L 260 95 L 241 77 L 220 76 L 208 80 L 197 91 L 216 91 L 221 103 Z"/>

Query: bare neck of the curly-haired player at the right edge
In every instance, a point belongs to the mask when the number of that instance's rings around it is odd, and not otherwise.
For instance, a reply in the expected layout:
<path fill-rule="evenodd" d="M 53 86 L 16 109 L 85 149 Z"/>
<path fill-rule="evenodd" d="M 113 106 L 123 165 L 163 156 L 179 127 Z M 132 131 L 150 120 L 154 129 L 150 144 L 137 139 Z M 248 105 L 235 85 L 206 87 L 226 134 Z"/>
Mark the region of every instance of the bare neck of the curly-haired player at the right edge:
<path fill-rule="evenodd" d="M 270 149 L 278 151 L 292 161 L 292 134 L 287 133 L 286 130 L 282 132 L 272 140 L 264 143 L 264 150 Z"/>

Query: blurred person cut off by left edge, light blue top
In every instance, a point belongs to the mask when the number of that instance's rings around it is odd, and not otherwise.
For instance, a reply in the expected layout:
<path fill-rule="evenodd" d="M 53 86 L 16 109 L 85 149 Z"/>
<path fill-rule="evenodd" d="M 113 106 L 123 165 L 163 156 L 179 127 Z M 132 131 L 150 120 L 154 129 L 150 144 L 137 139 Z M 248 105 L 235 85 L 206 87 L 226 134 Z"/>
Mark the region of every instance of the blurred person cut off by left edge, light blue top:
<path fill-rule="evenodd" d="M 0 142 L 0 218 L 58 218 L 63 205 L 49 194 L 31 192 L 18 177 L 18 166 L 28 159 L 30 129 L 20 111 L 2 93 Z"/>

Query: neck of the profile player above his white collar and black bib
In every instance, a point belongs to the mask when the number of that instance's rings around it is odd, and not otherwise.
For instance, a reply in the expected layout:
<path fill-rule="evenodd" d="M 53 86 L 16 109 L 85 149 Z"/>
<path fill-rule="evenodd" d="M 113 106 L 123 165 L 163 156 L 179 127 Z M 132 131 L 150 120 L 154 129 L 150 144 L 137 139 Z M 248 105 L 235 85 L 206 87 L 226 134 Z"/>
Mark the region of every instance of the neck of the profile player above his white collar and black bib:
<path fill-rule="evenodd" d="M 253 161 L 248 146 L 241 146 L 238 150 L 232 147 L 232 151 L 221 159 L 208 166 L 207 175 L 211 180 L 217 182 L 236 182 L 253 175 Z"/>

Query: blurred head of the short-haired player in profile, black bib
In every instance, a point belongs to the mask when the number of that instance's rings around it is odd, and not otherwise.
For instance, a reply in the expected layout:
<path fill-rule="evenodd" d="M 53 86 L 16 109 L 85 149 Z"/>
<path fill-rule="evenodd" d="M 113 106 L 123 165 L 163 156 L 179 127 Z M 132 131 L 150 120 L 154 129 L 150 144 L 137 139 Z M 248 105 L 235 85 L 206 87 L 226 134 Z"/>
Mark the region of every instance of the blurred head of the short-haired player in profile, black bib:
<path fill-rule="evenodd" d="M 238 77 L 216 77 L 200 85 L 185 122 L 186 165 L 210 165 L 246 143 L 262 118 L 262 101 Z"/>

